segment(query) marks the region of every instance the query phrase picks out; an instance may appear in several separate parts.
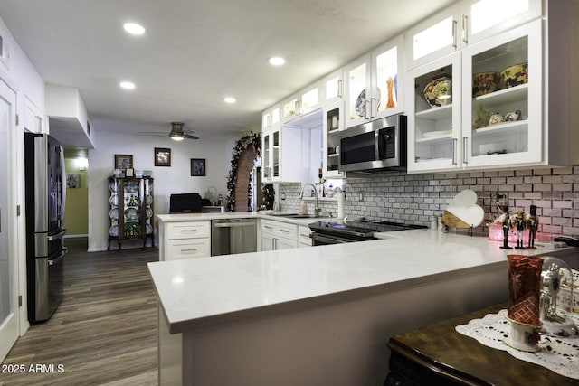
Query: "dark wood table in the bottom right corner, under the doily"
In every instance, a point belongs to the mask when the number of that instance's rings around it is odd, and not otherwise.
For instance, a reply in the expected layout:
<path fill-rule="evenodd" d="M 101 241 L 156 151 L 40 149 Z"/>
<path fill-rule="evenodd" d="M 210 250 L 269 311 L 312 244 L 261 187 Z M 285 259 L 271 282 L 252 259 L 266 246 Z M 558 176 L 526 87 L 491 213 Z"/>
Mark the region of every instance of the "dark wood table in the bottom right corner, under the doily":
<path fill-rule="evenodd" d="M 490 306 L 393 336 L 384 385 L 579 385 L 578 380 L 520 361 L 454 329 L 504 308 L 507 305 Z"/>

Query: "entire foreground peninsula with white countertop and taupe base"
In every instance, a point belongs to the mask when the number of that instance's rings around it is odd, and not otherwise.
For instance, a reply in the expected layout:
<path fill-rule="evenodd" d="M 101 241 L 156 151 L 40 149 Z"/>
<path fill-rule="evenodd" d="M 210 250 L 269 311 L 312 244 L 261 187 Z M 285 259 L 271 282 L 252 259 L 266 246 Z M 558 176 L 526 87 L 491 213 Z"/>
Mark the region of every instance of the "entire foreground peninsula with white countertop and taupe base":
<path fill-rule="evenodd" d="M 507 300 L 505 251 L 431 230 L 384 240 L 149 263 L 159 384 L 379 385 L 388 338 Z"/>

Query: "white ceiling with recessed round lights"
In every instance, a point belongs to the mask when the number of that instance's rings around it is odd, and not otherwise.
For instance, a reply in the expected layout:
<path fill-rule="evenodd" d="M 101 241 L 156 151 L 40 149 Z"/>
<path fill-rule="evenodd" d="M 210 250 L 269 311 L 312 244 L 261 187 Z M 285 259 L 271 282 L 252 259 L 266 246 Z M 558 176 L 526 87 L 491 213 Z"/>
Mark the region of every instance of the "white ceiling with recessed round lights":
<path fill-rule="evenodd" d="M 43 80 L 80 89 L 90 118 L 166 133 L 183 121 L 203 139 L 260 131 L 263 109 L 453 1 L 0 0 L 0 17 Z"/>

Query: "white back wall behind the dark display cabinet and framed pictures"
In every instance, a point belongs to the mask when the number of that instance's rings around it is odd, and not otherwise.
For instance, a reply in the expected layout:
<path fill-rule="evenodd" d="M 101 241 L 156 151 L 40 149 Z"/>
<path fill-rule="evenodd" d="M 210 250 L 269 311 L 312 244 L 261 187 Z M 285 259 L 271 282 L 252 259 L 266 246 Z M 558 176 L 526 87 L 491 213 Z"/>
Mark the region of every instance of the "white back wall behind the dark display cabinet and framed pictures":
<path fill-rule="evenodd" d="M 115 128 L 125 126 L 134 135 L 119 134 Z M 89 250 L 107 249 L 109 231 L 109 187 L 107 178 L 114 170 L 115 154 L 133 155 L 137 170 L 152 170 L 154 180 L 155 214 L 169 212 L 171 193 L 199 193 L 203 197 L 210 186 L 217 193 L 226 195 L 227 174 L 231 167 L 235 141 L 215 139 L 185 139 L 176 142 L 168 137 L 170 126 L 165 129 L 167 137 L 138 134 L 139 131 L 159 131 L 159 127 L 129 122 L 92 119 L 92 138 L 95 148 L 89 151 Z M 162 130 L 161 130 L 162 131 Z M 155 166 L 155 147 L 171 149 L 171 167 Z M 191 158 L 206 159 L 206 176 L 192 177 Z M 140 246 L 140 242 L 135 244 Z M 117 248 L 113 243 L 111 248 Z"/>

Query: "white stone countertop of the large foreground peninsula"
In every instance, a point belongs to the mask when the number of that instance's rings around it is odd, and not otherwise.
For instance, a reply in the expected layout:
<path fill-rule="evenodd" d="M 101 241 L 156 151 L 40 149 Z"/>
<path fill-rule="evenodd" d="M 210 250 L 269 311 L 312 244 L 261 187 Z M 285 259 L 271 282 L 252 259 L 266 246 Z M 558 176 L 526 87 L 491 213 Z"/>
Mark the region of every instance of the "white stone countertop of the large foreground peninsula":
<path fill-rule="evenodd" d="M 214 213 L 207 213 L 214 216 Z M 203 215 L 202 215 L 203 216 Z M 247 216 L 247 214 L 246 214 Z M 394 231 L 384 240 L 148 263 L 170 333 L 307 306 L 363 290 L 403 287 L 505 265 L 507 255 L 566 249 L 500 249 L 482 237 Z"/>

